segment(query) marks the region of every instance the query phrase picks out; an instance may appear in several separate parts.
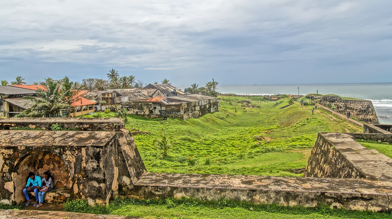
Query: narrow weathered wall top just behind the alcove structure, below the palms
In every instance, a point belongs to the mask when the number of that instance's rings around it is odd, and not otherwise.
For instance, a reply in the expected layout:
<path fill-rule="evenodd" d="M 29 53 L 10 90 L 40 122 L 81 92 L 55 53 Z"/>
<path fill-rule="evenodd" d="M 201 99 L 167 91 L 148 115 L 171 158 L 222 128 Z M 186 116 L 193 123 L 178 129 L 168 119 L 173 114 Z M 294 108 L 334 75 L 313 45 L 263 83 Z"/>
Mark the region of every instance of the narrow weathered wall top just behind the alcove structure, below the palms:
<path fill-rule="evenodd" d="M 122 118 L 2 118 L 0 129 L 30 127 L 51 130 L 56 123 L 65 129 L 76 128 L 80 131 L 118 131 L 125 127 Z"/>

